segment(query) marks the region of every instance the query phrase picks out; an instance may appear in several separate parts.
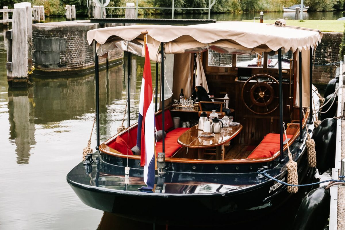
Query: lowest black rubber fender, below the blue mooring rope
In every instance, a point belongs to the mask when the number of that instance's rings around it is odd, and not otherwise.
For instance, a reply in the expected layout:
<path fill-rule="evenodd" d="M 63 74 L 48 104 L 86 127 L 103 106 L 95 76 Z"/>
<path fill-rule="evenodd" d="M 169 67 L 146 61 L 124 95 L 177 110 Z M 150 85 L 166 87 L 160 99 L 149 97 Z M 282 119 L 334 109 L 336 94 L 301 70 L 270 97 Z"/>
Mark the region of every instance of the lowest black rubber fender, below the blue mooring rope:
<path fill-rule="evenodd" d="M 331 194 L 325 187 L 314 189 L 303 198 L 294 220 L 293 230 L 324 229 L 331 203 Z"/>

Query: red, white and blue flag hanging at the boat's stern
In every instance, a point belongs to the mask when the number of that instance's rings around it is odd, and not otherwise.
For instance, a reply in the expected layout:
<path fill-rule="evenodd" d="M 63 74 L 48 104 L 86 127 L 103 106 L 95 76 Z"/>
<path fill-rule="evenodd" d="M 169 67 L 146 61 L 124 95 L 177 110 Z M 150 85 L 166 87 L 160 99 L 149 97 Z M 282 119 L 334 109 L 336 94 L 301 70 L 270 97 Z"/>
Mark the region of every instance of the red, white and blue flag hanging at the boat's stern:
<path fill-rule="evenodd" d="M 155 113 L 152 97 L 152 76 L 149 51 L 145 46 L 145 65 L 142 75 L 137 146 L 140 149 L 140 165 L 144 166 L 144 182 L 147 187 L 141 190 L 152 190 L 155 184 Z"/>

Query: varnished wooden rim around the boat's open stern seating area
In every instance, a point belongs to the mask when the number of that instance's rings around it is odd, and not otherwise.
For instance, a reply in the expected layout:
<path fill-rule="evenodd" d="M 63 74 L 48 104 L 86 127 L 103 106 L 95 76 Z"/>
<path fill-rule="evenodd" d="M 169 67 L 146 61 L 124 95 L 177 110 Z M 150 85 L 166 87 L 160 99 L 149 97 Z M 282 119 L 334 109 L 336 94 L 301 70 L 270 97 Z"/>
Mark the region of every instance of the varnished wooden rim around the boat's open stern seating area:
<path fill-rule="evenodd" d="M 160 113 L 161 111 L 158 111 L 156 114 Z M 305 113 L 306 117 L 307 114 L 309 114 L 309 110 Z M 128 129 L 131 129 L 137 125 L 133 124 L 130 126 Z M 306 126 L 306 121 L 303 122 L 303 128 Z M 140 156 L 135 156 L 135 155 L 125 155 L 122 154 L 115 149 L 110 148 L 107 146 L 107 143 L 110 141 L 114 140 L 119 134 L 122 134 L 126 132 L 128 129 L 116 134 L 114 137 L 111 137 L 104 143 L 102 143 L 99 146 L 99 150 L 105 154 L 114 156 L 114 157 L 120 157 L 120 158 L 128 158 L 128 159 L 134 159 L 134 160 L 140 160 Z M 299 136 L 299 129 L 298 131 L 294 134 L 294 136 L 286 143 L 284 144 L 284 151 L 287 149 L 287 144 L 289 146 L 297 139 Z M 269 162 L 277 159 L 280 156 L 280 151 L 277 151 L 272 157 L 268 158 L 245 158 L 245 159 L 231 159 L 231 160 L 202 160 L 202 159 L 186 159 L 186 158 L 166 158 L 166 162 L 173 162 L 173 163 L 199 163 L 199 164 L 247 164 L 247 163 L 264 163 L 264 162 Z"/>

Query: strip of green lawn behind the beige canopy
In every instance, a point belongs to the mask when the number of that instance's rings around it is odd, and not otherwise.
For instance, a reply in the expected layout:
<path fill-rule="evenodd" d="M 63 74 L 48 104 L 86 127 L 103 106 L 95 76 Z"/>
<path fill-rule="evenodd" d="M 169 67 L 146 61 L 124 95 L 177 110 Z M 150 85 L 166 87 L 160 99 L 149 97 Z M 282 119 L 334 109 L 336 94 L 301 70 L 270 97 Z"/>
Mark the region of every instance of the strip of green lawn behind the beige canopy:
<path fill-rule="evenodd" d="M 252 22 L 253 20 L 245 20 Z M 258 21 L 258 20 L 255 20 Z M 274 23 L 276 20 L 265 20 L 265 23 Z M 305 20 L 299 22 L 299 20 L 286 20 L 287 26 L 299 26 L 311 29 L 321 30 L 322 32 L 344 32 L 345 21 L 337 20 Z"/>

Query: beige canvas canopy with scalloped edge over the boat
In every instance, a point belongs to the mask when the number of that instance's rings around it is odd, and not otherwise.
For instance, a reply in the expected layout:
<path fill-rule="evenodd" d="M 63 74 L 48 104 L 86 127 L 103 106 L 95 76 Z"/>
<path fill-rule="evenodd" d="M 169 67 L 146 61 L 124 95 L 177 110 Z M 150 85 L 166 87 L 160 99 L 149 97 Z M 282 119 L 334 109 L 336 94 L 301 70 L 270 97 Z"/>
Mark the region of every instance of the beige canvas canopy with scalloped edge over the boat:
<path fill-rule="evenodd" d="M 275 26 L 254 22 L 217 22 L 191 26 L 134 25 L 88 31 L 89 44 L 97 42 L 97 54 L 120 48 L 144 56 L 142 30 L 148 30 L 150 59 L 160 62 L 158 49 L 164 42 L 165 53 L 200 52 L 215 49 L 224 53 L 253 53 L 310 49 L 321 41 L 319 30 Z"/>

